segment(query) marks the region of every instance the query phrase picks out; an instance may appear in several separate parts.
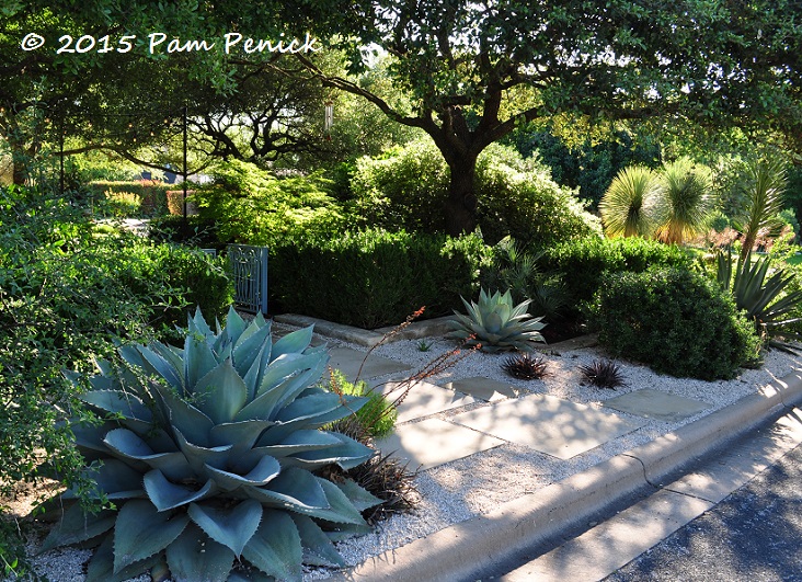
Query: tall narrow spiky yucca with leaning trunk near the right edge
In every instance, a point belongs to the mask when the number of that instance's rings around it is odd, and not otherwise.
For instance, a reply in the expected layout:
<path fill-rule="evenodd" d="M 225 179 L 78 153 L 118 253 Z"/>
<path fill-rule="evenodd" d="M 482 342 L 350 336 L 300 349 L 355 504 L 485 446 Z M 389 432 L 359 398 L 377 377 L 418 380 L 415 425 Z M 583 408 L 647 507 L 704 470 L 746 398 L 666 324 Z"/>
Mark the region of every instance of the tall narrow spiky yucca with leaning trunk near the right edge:
<path fill-rule="evenodd" d="M 752 251 L 761 229 L 777 229 L 776 216 L 782 210 L 783 194 L 788 186 L 786 168 L 777 158 L 752 161 L 743 186 L 745 197 L 735 228 L 744 235 L 741 261 Z"/>

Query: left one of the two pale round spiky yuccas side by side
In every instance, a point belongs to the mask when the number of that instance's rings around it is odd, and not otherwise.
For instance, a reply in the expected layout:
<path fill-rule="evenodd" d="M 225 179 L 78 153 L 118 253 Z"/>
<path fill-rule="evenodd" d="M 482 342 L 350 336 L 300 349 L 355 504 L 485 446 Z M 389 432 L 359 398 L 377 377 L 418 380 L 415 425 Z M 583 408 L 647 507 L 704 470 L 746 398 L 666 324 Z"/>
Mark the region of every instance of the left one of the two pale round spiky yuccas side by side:
<path fill-rule="evenodd" d="M 618 172 L 598 209 L 608 237 L 651 236 L 660 181 L 644 166 L 630 166 Z"/>

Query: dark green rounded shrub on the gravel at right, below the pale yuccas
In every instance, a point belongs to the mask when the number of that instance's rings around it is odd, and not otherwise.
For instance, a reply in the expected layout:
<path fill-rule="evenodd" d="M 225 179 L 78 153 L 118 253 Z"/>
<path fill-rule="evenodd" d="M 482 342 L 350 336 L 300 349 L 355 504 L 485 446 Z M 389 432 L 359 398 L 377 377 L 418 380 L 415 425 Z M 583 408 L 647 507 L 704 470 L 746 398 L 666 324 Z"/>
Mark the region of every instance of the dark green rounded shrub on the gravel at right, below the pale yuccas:
<path fill-rule="evenodd" d="M 760 340 L 732 298 L 703 275 L 656 267 L 604 277 L 594 301 L 599 343 L 661 374 L 732 378 Z"/>

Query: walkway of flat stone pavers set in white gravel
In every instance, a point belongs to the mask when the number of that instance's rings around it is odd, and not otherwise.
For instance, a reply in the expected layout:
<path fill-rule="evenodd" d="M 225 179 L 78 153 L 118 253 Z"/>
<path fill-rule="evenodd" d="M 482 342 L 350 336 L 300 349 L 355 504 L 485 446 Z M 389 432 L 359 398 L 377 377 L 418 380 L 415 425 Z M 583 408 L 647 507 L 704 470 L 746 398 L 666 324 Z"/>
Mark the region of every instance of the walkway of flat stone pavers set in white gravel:
<path fill-rule="evenodd" d="M 370 383 L 410 366 L 350 347 L 333 347 L 330 365 L 355 379 Z M 403 388 L 400 380 L 378 386 L 390 399 Z M 490 406 L 440 413 L 477 402 Z M 419 383 L 398 407 L 394 433 L 377 443 L 379 449 L 408 459 L 410 467 L 428 469 L 504 443 L 530 447 L 560 459 L 570 459 L 610 440 L 634 431 L 646 419 L 676 421 L 709 408 L 702 401 L 642 389 L 612 398 L 598 410 L 546 395 L 520 396 L 512 385 L 482 377 L 437 386 Z M 618 412 L 642 416 L 625 419 Z M 433 415 L 439 415 L 433 418 Z"/>

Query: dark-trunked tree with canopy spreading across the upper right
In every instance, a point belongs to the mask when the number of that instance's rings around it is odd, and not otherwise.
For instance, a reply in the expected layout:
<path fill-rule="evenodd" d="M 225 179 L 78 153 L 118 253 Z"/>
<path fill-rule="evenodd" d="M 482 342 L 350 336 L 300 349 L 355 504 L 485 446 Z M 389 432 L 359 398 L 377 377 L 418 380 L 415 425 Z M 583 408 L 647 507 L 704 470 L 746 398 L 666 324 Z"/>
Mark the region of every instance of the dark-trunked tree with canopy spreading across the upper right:
<path fill-rule="evenodd" d="M 432 136 L 451 171 L 446 216 L 458 233 L 476 226 L 477 156 L 525 122 L 660 118 L 799 135 L 800 12 L 798 0 L 365 0 L 339 45 L 355 69 L 370 59 L 365 46 L 390 55 L 413 105 L 325 81 Z"/>

